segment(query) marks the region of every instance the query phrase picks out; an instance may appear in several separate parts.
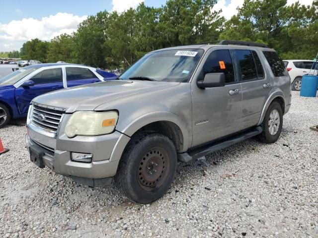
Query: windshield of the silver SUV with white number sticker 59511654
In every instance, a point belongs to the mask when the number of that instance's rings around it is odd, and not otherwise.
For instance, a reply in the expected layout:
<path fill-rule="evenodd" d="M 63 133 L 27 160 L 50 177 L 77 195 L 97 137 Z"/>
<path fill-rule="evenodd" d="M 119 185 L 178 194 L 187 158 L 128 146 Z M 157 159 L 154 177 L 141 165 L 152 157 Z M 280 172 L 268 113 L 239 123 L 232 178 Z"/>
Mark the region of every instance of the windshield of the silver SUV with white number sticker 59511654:
<path fill-rule="evenodd" d="M 188 82 L 203 55 L 202 49 L 166 50 L 145 55 L 121 79 Z"/>

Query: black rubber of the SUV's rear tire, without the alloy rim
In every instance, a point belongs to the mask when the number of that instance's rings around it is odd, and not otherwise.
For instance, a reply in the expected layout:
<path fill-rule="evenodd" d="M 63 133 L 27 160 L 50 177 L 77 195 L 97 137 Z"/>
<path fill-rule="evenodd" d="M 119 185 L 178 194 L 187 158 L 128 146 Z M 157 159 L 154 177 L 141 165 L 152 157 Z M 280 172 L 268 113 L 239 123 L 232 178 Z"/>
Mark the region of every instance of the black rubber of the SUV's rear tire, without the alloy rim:
<path fill-rule="evenodd" d="M 269 129 L 268 129 L 268 121 L 269 121 L 269 115 L 270 113 L 276 109 L 279 113 L 279 127 L 278 127 L 278 131 L 275 135 L 271 135 L 269 133 Z M 264 136 L 265 136 L 265 142 L 266 143 L 274 143 L 277 141 L 278 137 L 280 136 L 280 133 L 282 131 L 282 127 L 283 127 L 283 110 L 281 105 L 278 102 L 273 102 L 269 108 L 267 109 L 267 112 L 265 114 L 265 118 L 264 118 L 264 125 L 263 125 L 263 130 L 264 130 Z"/>

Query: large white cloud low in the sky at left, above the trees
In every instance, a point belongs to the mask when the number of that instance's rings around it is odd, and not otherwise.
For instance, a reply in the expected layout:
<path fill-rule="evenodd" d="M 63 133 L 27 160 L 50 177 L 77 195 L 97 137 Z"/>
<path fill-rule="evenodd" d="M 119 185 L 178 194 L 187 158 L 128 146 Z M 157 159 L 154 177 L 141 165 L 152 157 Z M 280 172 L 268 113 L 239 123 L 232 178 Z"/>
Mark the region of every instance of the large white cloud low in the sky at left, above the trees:
<path fill-rule="evenodd" d="M 34 38 L 49 41 L 63 33 L 71 34 L 86 18 L 87 16 L 59 12 L 56 15 L 42 17 L 41 20 L 23 18 L 7 24 L 0 23 L 0 51 L 8 50 L 4 44 L 12 44 L 13 49 L 9 50 L 19 50 L 23 42 Z"/>

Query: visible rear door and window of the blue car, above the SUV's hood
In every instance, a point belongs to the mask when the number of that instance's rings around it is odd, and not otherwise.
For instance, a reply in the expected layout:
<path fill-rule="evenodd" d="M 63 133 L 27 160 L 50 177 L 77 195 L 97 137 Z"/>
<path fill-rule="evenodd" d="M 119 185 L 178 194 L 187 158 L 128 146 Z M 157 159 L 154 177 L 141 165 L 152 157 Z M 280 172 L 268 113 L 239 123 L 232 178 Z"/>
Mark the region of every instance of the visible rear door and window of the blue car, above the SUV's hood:
<path fill-rule="evenodd" d="M 89 68 L 66 67 L 66 81 L 68 87 L 74 87 L 101 80 Z"/>

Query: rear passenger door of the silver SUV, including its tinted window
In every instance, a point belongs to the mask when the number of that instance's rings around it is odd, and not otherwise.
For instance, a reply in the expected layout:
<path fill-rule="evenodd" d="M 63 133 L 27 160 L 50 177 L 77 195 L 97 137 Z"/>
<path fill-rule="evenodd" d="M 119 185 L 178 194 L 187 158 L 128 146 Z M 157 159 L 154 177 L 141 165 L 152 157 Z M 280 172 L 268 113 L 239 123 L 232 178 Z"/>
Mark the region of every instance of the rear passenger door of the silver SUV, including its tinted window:
<path fill-rule="evenodd" d="M 242 128 L 258 123 L 265 102 L 272 91 L 269 75 L 254 50 L 235 50 L 239 66 L 239 80 L 242 86 L 241 120 Z"/>

